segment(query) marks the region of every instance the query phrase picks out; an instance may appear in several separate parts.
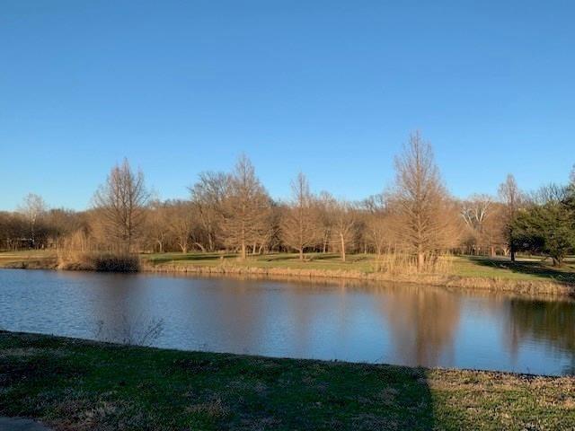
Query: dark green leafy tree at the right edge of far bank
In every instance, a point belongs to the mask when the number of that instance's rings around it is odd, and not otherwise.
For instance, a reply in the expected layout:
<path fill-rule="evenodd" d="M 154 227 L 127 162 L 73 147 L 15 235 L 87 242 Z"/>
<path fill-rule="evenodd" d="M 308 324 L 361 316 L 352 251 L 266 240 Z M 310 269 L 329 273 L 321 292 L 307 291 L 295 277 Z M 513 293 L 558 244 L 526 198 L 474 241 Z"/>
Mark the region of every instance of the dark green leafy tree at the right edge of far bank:
<path fill-rule="evenodd" d="M 519 209 L 511 226 L 517 246 L 544 254 L 553 259 L 553 266 L 561 266 L 565 256 L 575 251 L 575 211 L 568 197 L 567 188 L 551 186 Z"/>

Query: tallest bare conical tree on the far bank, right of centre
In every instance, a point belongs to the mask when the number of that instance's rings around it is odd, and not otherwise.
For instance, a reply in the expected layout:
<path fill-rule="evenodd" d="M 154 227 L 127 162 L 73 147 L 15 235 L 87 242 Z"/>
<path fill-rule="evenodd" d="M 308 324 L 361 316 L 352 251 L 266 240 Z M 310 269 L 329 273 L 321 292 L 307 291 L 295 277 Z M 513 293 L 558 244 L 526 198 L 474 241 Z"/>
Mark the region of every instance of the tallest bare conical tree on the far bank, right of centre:
<path fill-rule="evenodd" d="M 450 231 L 449 199 L 434 162 L 431 145 L 419 132 L 410 136 L 395 159 L 394 207 L 403 245 L 417 256 L 418 270 L 426 257 L 447 247 Z"/>

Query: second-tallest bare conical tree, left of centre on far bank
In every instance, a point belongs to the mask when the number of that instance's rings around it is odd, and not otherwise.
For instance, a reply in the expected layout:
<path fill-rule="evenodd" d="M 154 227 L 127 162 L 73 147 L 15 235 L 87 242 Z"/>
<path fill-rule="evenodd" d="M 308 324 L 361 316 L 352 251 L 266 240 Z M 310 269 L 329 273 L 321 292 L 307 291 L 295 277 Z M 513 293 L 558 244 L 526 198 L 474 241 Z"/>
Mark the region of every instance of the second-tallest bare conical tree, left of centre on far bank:
<path fill-rule="evenodd" d="M 226 244 L 240 250 L 246 258 L 248 245 L 261 242 L 266 235 L 270 216 L 270 199 L 250 160 L 242 155 L 230 178 L 229 192 L 224 203 L 223 231 Z"/>

